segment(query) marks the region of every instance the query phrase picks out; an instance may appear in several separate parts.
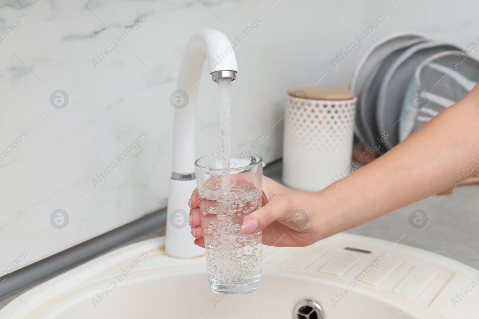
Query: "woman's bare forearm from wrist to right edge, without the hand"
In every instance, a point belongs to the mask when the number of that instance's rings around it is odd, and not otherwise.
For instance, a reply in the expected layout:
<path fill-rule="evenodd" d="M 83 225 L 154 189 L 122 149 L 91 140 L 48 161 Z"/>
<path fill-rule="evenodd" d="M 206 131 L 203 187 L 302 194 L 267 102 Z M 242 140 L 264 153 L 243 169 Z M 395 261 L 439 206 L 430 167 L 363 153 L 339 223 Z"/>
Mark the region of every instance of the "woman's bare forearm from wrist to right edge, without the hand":
<path fill-rule="evenodd" d="M 354 228 L 453 187 L 461 181 L 457 174 L 462 179 L 477 174 L 478 97 L 476 86 L 388 153 L 316 194 L 324 196 L 312 208 L 318 236 Z"/>

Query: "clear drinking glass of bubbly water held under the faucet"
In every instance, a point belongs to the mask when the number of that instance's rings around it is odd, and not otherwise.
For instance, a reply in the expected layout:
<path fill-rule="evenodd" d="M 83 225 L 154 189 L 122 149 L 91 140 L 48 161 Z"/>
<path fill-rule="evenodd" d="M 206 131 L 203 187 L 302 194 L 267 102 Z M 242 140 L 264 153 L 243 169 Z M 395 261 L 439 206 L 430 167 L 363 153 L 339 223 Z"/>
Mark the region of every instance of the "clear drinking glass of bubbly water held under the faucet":
<path fill-rule="evenodd" d="M 261 286 L 261 231 L 241 233 L 243 220 L 262 206 L 262 158 L 231 153 L 223 169 L 222 154 L 194 163 L 211 290 L 243 295 Z"/>

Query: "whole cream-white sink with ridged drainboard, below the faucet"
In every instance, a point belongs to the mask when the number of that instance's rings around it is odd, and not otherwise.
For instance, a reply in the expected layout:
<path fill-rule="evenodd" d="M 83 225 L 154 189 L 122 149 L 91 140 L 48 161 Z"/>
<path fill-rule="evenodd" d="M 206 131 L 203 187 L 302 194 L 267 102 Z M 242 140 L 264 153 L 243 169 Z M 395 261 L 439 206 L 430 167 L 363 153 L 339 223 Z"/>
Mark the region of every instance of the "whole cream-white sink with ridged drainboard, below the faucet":
<path fill-rule="evenodd" d="M 262 286 L 247 295 L 213 293 L 204 256 L 169 257 L 154 238 L 34 287 L 0 319 L 302 319 L 293 310 L 304 299 L 320 305 L 323 319 L 464 319 L 479 310 L 479 287 L 470 288 L 479 271 L 417 248 L 345 233 L 308 247 L 263 248 Z M 461 289 L 471 292 L 459 300 Z"/>

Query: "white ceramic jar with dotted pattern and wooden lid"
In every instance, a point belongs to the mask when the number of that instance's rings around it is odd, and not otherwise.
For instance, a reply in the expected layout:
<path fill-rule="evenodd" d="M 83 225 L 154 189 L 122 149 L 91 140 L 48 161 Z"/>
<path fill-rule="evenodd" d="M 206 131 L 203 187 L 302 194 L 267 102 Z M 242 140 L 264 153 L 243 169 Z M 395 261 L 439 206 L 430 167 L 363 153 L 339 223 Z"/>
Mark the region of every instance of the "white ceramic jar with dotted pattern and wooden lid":
<path fill-rule="evenodd" d="M 283 145 L 286 186 L 315 192 L 351 173 L 354 93 L 338 89 L 288 90 Z"/>

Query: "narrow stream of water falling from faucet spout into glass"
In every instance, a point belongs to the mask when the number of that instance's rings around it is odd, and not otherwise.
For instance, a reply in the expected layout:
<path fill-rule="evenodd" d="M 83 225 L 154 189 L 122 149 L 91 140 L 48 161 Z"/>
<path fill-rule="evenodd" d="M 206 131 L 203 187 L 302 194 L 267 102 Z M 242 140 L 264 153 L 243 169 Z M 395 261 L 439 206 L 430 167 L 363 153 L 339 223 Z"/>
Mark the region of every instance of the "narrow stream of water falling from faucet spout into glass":
<path fill-rule="evenodd" d="M 231 104 L 231 78 L 218 78 L 219 105 L 221 110 L 221 153 L 223 154 L 223 188 L 229 188 L 229 152 L 231 128 L 229 106 Z"/>

